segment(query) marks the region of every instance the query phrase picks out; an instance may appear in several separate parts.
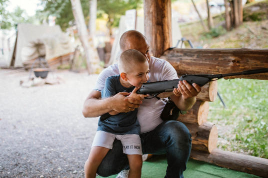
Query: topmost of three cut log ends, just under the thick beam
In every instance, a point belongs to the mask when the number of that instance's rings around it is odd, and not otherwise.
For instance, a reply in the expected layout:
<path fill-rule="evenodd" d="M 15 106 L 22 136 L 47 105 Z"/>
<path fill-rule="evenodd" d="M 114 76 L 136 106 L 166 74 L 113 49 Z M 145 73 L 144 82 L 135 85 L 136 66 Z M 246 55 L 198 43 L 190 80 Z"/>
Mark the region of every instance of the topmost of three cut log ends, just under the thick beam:
<path fill-rule="evenodd" d="M 202 86 L 201 92 L 196 96 L 197 100 L 215 101 L 217 97 L 217 81 L 212 81 Z"/>

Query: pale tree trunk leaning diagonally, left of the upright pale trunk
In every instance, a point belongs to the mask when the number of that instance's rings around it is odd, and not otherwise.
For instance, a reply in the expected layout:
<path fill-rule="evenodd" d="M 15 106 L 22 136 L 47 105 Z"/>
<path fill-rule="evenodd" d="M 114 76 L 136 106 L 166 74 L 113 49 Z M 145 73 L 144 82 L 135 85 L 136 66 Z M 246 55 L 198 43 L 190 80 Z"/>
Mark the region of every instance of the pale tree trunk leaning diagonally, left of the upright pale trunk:
<path fill-rule="evenodd" d="M 94 48 L 93 40 L 86 29 L 81 2 L 80 0 L 70 1 L 72 6 L 72 13 L 76 21 L 78 36 L 84 49 L 88 73 L 98 73 L 101 70 L 99 66 L 99 58 L 97 50 Z"/>

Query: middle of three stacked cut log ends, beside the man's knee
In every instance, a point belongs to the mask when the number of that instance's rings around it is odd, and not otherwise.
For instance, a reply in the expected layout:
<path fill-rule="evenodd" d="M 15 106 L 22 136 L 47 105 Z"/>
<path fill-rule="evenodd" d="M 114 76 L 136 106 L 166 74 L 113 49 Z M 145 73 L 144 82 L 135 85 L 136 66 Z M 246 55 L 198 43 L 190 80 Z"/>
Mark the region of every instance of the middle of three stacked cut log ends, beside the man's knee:
<path fill-rule="evenodd" d="M 192 108 L 186 114 L 181 114 L 177 121 L 188 124 L 201 125 L 207 121 L 208 116 L 208 102 L 197 100 Z"/>

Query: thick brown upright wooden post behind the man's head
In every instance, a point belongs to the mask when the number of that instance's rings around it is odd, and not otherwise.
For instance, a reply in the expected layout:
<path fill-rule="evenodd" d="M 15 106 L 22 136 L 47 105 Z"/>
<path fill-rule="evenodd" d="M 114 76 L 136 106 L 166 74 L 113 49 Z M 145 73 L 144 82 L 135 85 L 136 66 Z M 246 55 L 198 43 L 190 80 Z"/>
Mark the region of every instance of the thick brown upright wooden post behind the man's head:
<path fill-rule="evenodd" d="M 143 0 L 144 31 L 152 55 L 159 57 L 172 46 L 171 0 Z"/>

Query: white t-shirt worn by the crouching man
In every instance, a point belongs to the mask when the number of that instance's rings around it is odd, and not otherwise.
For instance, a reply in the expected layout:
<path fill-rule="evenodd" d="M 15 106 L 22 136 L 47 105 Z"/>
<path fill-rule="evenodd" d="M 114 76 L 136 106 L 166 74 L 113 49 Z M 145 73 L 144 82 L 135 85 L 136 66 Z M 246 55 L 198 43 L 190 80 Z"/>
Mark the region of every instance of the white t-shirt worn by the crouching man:
<path fill-rule="evenodd" d="M 101 91 L 104 88 L 105 80 L 109 76 L 119 75 L 118 65 L 113 64 L 105 68 L 98 76 L 94 89 Z M 172 65 L 159 58 L 151 57 L 149 63 L 149 82 L 177 79 L 176 70 Z M 144 99 L 138 108 L 137 119 L 140 124 L 140 133 L 153 130 L 163 121 L 160 114 L 165 102 L 156 98 Z"/>

